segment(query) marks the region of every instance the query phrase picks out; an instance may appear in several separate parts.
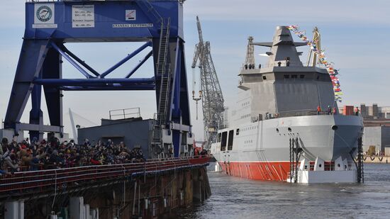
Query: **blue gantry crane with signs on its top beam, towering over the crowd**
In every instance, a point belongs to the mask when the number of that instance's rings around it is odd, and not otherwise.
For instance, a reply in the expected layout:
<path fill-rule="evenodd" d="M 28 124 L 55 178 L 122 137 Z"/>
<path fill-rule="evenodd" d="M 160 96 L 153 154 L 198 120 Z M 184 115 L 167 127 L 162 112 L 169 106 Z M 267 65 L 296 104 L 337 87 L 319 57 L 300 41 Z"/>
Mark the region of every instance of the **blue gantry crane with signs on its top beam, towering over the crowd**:
<path fill-rule="evenodd" d="M 28 1 L 26 30 L 13 81 L 4 128 L 15 133 L 63 133 L 62 91 L 155 90 L 157 120 L 152 134 L 156 151 L 173 146 L 179 156 L 184 143 L 192 144 L 189 96 L 183 37 L 183 1 Z M 66 43 L 145 42 L 105 72 L 98 72 L 69 51 Z M 150 49 L 122 78 L 109 74 L 143 50 Z M 99 48 L 96 48 L 96 52 Z M 154 76 L 135 78 L 150 57 Z M 82 78 L 62 77 L 67 61 Z M 41 96 L 45 95 L 50 125 L 44 125 Z M 21 123 L 31 98 L 29 123 Z M 184 142 L 184 143 L 183 143 Z M 158 148 L 157 148 L 158 147 Z"/>

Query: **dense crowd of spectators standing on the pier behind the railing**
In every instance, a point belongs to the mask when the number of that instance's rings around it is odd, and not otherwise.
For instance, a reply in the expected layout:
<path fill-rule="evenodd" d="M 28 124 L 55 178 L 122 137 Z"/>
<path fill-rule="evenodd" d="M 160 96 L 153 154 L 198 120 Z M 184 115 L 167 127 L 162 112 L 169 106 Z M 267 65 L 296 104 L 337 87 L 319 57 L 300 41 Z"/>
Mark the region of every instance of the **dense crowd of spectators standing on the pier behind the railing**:
<path fill-rule="evenodd" d="M 143 152 L 135 147 L 129 150 L 121 142 L 75 144 L 73 140 L 60 142 L 56 137 L 48 140 L 23 140 L 16 142 L 3 137 L 0 147 L 0 175 L 40 169 L 82 167 L 101 164 L 142 162 Z"/>

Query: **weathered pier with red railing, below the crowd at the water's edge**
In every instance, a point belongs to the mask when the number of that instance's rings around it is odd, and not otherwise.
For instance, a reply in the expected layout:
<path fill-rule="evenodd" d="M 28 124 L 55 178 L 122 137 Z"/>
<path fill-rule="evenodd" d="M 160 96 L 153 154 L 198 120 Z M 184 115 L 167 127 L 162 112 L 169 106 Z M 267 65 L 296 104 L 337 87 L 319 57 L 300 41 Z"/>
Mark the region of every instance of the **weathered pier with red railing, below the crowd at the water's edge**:
<path fill-rule="evenodd" d="M 208 156 L 149 159 L 0 178 L 0 218 L 157 218 L 211 195 Z"/>

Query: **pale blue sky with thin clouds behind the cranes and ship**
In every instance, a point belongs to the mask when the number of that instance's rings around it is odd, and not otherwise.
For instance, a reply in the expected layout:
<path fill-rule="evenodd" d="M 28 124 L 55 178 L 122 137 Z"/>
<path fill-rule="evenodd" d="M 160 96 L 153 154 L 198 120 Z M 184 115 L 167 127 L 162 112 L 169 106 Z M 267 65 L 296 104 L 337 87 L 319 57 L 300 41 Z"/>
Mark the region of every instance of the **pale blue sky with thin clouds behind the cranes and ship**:
<path fill-rule="evenodd" d="M 0 119 L 6 115 L 6 107 L 13 77 L 21 50 L 24 33 L 25 0 L 0 1 Z M 245 60 L 247 37 L 252 35 L 257 42 L 271 41 L 276 26 L 298 25 L 311 37 L 315 26 L 321 32 L 321 46 L 328 60 L 340 69 L 340 84 L 344 93 L 341 105 L 378 103 L 390 106 L 390 1 L 345 0 L 304 1 L 280 0 L 187 0 L 184 2 L 184 40 L 186 41 L 186 68 L 189 93 L 192 88 L 191 62 L 194 45 L 198 43 L 196 15 L 201 19 L 204 40 L 211 43 L 211 56 L 216 67 L 225 105 L 235 103 L 238 89 L 238 71 Z M 294 36 L 294 40 L 300 41 Z M 132 52 L 139 43 L 94 43 L 69 44 L 69 50 L 87 63 L 103 72 Z M 265 57 L 258 54 L 266 48 L 255 47 L 256 64 L 264 64 Z M 299 47 L 304 54 L 308 47 Z M 112 77 L 123 74 L 142 59 L 147 51 L 113 72 Z M 301 61 L 306 62 L 304 55 Z M 65 78 L 82 78 L 75 69 L 64 62 Z M 136 77 L 151 77 L 150 60 L 141 67 Z M 108 118 L 108 111 L 119 108 L 140 107 L 143 118 L 152 118 L 156 111 L 154 91 L 65 91 L 65 131 L 69 129 L 68 108 L 75 116 L 75 123 L 99 124 Z M 189 96 L 191 99 L 191 96 Z M 196 120 L 196 106 L 191 101 L 191 117 L 196 138 L 203 137 L 201 113 Z M 340 104 L 339 104 L 340 106 Z M 22 122 L 28 121 L 30 103 L 26 106 Z M 48 123 L 43 99 L 44 123 Z M 201 107 L 199 107 L 201 112 Z M 72 135 L 72 134 L 70 134 Z"/>

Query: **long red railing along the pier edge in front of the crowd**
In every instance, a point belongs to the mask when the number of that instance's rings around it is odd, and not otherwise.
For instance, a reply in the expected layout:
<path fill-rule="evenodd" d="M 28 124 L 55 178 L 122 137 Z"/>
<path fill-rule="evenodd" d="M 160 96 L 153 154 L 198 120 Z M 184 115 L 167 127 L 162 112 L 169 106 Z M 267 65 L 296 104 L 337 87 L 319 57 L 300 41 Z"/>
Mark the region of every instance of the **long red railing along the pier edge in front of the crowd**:
<path fill-rule="evenodd" d="M 208 155 L 148 159 L 145 162 L 106 164 L 63 169 L 45 169 L 16 172 L 0 176 L 0 194 L 9 191 L 23 192 L 28 189 L 53 189 L 77 186 L 86 181 L 118 180 L 128 176 L 145 176 L 169 170 L 201 167 L 209 162 Z"/>

